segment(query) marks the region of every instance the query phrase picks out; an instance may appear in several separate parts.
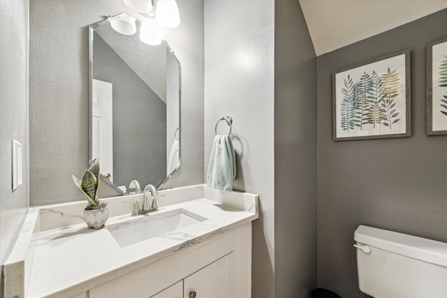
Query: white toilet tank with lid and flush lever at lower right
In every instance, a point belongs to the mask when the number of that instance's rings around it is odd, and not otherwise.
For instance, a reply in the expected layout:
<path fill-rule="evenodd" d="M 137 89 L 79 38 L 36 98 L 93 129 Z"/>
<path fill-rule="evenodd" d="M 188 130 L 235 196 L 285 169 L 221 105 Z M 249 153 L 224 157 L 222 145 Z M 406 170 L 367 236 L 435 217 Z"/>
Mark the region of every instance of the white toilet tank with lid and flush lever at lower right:
<path fill-rule="evenodd" d="M 359 225 L 358 285 L 375 298 L 446 298 L 447 244 Z"/>

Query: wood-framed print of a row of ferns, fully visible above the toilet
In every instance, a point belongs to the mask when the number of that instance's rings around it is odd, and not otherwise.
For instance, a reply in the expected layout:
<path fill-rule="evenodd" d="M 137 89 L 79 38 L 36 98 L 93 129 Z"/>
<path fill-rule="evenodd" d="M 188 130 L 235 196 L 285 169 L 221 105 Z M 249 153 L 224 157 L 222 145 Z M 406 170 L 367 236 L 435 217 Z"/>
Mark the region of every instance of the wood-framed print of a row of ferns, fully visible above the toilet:
<path fill-rule="evenodd" d="M 411 136 L 410 51 L 332 73 L 332 140 Z"/>

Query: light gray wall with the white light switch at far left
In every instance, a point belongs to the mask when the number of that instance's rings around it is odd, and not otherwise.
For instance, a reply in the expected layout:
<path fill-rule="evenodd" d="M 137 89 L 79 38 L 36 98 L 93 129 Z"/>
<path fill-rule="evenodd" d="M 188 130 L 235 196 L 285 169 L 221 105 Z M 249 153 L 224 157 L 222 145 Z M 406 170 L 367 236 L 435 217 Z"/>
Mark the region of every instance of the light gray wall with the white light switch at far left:
<path fill-rule="evenodd" d="M 22 229 L 29 207 L 29 1 L 0 5 L 0 264 Z M 12 190 L 12 140 L 22 144 L 23 182 Z M 2 289 L 3 279 L 0 282 Z M 3 291 L 0 291 L 3 294 Z"/>

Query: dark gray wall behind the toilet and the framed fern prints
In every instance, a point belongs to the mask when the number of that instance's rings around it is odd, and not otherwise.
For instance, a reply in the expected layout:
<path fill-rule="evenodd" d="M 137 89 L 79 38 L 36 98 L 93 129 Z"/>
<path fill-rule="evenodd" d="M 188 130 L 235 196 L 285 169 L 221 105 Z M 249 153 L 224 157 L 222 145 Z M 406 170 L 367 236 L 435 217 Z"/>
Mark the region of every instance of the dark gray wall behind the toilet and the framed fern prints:
<path fill-rule="evenodd" d="M 447 136 L 425 135 L 425 46 L 446 36 L 447 10 L 318 57 L 318 285 L 358 290 L 358 225 L 447 241 Z M 332 71 L 411 50 L 412 136 L 332 141 Z"/>

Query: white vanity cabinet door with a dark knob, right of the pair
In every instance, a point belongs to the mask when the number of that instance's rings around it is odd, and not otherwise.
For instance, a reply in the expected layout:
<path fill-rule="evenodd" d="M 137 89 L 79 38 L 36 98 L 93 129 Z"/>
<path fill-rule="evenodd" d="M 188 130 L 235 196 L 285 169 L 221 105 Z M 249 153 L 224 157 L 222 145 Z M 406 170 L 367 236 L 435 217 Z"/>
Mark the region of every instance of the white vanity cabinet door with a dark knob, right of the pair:
<path fill-rule="evenodd" d="M 234 298 L 234 253 L 184 278 L 184 298 Z"/>

